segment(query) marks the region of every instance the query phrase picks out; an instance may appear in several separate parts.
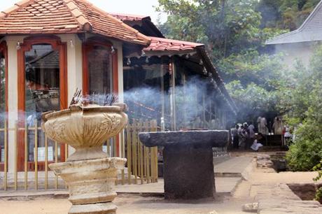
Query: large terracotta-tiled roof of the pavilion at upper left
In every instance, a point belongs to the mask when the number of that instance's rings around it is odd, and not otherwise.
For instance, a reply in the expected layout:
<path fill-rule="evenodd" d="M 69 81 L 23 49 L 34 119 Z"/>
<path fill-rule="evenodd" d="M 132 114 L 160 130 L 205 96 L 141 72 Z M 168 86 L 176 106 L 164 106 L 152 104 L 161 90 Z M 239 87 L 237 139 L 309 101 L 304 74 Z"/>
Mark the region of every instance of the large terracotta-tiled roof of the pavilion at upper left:
<path fill-rule="evenodd" d="M 0 34 L 92 32 L 148 45 L 150 39 L 86 0 L 24 0 L 0 13 Z"/>

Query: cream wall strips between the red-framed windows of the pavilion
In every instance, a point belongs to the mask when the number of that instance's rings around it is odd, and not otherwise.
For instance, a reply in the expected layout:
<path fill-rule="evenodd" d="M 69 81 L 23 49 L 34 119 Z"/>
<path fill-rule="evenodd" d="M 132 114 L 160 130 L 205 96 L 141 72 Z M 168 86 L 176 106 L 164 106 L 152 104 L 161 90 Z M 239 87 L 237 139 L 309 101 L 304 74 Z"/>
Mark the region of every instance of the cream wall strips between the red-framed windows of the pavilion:
<path fill-rule="evenodd" d="M 67 48 L 67 96 L 71 101 L 71 96 L 76 88 L 83 87 L 83 64 L 82 64 L 82 42 L 76 34 L 62 34 L 59 36 L 62 42 L 66 42 Z M 6 36 L 4 40 L 8 46 L 8 127 L 15 127 L 18 120 L 18 57 L 17 44 L 21 44 L 27 36 Z M 73 45 L 71 45 L 71 41 Z M 111 41 L 114 48 L 118 50 L 118 92 L 119 101 L 123 101 L 123 43 Z M 8 171 L 13 172 L 15 166 L 15 132 L 8 132 Z M 73 148 L 69 148 L 69 154 Z"/>

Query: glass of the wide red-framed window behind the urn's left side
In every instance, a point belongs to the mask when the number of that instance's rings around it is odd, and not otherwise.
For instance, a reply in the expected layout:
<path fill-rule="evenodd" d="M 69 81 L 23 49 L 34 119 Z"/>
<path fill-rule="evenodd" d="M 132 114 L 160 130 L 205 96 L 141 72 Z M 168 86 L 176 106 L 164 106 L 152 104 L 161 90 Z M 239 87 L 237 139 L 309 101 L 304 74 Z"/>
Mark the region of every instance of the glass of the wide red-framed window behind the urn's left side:
<path fill-rule="evenodd" d="M 60 110 L 59 51 L 52 45 L 36 44 L 25 52 L 25 117 L 28 127 L 41 126 L 41 114 Z M 38 130 L 38 161 L 45 161 L 41 152 L 45 147 L 45 135 Z M 28 161 L 34 161 L 35 131 L 28 131 Z M 48 160 L 53 161 L 54 142 L 48 144 Z M 60 148 L 58 148 L 60 149 Z M 51 151 L 51 152 L 50 152 Z M 58 153 L 58 158 L 59 158 Z"/>

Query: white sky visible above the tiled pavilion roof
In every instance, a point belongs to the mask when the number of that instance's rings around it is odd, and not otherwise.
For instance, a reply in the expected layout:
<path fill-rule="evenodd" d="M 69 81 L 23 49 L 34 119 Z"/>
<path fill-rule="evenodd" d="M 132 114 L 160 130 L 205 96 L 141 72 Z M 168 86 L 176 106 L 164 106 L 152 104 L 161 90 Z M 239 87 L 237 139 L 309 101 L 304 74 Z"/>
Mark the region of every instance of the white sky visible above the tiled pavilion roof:
<path fill-rule="evenodd" d="M 6 10 L 20 0 L 1 0 L 0 10 Z M 88 0 L 95 6 L 110 13 L 127 13 L 134 15 L 149 15 L 154 23 L 157 23 L 159 13 L 155 12 L 154 6 L 158 6 L 158 0 Z M 165 22 L 167 16 L 160 15 L 160 21 Z"/>

